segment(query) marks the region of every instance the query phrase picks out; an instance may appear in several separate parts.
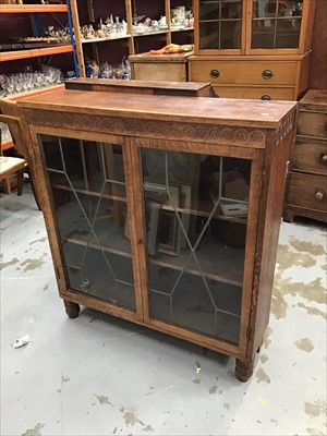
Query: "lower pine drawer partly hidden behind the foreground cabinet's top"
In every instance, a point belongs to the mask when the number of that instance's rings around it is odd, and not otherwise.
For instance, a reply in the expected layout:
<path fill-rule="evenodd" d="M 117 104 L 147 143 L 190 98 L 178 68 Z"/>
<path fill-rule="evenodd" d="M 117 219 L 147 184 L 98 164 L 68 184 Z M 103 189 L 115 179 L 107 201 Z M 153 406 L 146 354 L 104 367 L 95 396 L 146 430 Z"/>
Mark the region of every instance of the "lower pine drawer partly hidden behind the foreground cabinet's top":
<path fill-rule="evenodd" d="M 254 98 L 266 97 L 271 100 L 294 100 L 295 89 L 292 87 L 263 87 L 263 86 L 213 86 L 221 98 Z M 265 98 L 263 98 L 265 99 Z"/>

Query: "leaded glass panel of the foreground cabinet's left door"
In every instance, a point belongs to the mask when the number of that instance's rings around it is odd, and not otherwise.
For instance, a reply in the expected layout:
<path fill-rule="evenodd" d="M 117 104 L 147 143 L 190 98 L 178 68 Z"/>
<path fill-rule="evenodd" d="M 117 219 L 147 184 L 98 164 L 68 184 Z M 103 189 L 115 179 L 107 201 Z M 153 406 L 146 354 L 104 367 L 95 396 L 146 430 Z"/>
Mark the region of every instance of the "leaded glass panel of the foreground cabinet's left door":
<path fill-rule="evenodd" d="M 69 291 L 136 313 L 122 142 L 38 140 Z"/>

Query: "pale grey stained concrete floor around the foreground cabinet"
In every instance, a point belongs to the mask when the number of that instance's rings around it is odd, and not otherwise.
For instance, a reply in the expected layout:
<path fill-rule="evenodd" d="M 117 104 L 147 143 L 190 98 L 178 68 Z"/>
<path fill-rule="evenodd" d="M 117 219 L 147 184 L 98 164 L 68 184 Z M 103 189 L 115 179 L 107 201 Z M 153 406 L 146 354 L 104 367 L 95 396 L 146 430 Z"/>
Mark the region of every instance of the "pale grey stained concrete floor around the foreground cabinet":
<path fill-rule="evenodd" d="M 326 235 L 282 223 L 242 384 L 233 359 L 87 308 L 69 319 L 28 186 L 1 194 L 1 435 L 325 435 Z"/>

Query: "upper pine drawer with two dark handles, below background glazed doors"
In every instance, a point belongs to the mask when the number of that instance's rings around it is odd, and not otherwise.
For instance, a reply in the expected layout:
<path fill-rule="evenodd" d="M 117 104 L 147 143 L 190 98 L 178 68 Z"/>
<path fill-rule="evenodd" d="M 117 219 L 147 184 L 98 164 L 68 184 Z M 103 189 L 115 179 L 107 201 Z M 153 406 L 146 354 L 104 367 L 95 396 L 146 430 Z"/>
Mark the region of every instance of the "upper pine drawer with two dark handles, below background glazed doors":
<path fill-rule="evenodd" d="M 219 61 L 190 60 L 190 81 L 218 84 L 293 85 L 298 77 L 298 62 L 280 61 Z M 269 72 L 271 76 L 269 76 Z M 263 74 L 267 74 L 264 78 Z"/>

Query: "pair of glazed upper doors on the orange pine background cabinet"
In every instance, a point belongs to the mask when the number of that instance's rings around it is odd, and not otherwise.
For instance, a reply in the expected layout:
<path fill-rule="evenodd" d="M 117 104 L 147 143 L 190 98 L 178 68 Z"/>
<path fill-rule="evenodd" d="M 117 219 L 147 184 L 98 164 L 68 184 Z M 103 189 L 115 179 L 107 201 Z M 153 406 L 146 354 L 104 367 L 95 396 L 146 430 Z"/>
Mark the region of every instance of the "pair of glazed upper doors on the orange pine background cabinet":
<path fill-rule="evenodd" d="M 305 53 L 315 4 L 316 0 L 194 0 L 195 52 Z"/>

